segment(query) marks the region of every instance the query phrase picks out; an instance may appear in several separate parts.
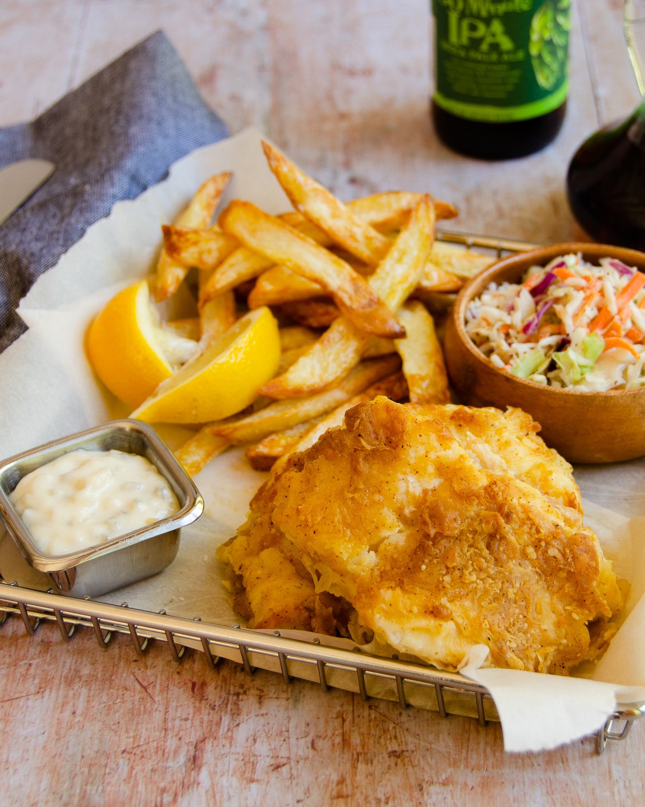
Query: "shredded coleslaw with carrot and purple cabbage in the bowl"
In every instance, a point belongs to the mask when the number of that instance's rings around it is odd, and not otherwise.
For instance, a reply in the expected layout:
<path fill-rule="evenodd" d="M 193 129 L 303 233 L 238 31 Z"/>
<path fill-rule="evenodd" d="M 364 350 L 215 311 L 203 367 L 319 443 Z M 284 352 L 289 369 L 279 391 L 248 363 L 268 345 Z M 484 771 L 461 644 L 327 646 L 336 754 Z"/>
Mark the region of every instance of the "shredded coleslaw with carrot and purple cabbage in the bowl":
<path fill-rule="evenodd" d="M 493 365 L 551 387 L 601 392 L 645 385 L 645 274 L 581 254 L 491 283 L 465 318 Z"/>

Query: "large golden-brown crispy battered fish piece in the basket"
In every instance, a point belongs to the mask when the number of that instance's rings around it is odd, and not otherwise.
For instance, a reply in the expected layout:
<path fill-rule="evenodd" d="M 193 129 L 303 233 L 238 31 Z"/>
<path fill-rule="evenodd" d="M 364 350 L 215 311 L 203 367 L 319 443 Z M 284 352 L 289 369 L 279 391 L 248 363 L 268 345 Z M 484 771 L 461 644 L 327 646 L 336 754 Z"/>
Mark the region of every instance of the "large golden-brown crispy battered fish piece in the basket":
<path fill-rule="evenodd" d="M 377 398 L 290 458 L 221 556 L 251 625 L 379 642 L 454 670 L 565 673 L 622 596 L 571 467 L 520 410 Z"/>

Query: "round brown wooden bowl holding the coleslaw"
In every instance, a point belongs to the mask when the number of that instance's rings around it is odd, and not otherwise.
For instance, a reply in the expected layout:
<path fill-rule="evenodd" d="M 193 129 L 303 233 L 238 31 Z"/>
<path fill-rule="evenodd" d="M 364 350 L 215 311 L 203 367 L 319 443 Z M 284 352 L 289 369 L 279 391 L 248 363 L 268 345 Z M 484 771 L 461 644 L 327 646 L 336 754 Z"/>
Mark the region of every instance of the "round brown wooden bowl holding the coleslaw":
<path fill-rule="evenodd" d="M 645 253 L 602 244 L 554 244 L 498 261 L 460 291 L 446 329 L 448 374 L 457 394 L 472 406 L 519 407 L 541 426 L 541 436 L 569 462 L 619 462 L 645 454 L 645 388 L 579 392 L 544 387 L 498 370 L 468 337 L 464 325 L 471 300 L 490 282 L 518 282 L 531 266 L 558 255 L 582 253 L 597 263 L 615 257 L 645 270 Z"/>

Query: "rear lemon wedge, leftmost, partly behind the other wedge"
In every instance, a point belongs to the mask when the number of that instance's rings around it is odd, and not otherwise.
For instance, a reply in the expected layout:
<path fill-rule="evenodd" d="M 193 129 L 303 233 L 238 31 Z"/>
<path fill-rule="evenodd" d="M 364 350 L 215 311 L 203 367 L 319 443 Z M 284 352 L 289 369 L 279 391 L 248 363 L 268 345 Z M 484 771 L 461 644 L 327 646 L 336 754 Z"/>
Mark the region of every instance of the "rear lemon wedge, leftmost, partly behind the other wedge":
<path fill-rule="evenodd" d="M 119 291 L 89 326 L 89 361 L 106 387 L 131 407 L 173 374 L 160 333 L 145 280 Z"/>

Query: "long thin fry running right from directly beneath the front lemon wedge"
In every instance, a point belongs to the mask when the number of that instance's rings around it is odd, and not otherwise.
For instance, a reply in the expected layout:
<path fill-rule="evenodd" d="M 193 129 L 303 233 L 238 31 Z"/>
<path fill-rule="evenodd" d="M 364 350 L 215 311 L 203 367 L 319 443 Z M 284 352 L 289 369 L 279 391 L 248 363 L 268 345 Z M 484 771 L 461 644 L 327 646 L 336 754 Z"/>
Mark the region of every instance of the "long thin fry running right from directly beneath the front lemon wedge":
<path fill-rule="evenodd" d="M 272 432 L 289 429 L 305 420 L 311 420 L 364 391 L 379 379 L 395 372 L 401 364 L 398 356 L 370 359 L 361 362 L 335 389 L 299 400 L 274 401 L 268 407 L 242 417 L 233 423 L 209 424 L 211 433 L 235 444 L 261 440 Z"/>

